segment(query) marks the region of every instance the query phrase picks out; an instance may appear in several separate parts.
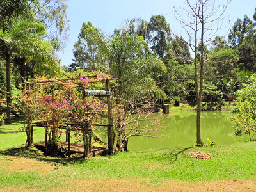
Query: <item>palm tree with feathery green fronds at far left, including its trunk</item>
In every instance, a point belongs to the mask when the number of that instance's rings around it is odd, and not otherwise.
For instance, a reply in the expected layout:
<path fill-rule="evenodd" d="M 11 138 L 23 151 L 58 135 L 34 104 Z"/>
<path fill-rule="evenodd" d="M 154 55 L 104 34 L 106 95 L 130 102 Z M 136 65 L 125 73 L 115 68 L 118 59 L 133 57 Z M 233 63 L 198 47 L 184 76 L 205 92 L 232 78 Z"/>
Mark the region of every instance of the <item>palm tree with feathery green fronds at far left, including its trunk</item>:
<path fill-rule="evenodd" d="M 0 30 L 1 52 L 6 63 L 6 90 L 11 93 L 10 69 L 11 57 L 15 54 L 15 63 L 20 65 L 22 82 L 26 79 L 26 64 L 33 59 L 42 61 L 54 61 L 54 49 L 43 39 L 45 33 L 44 24 L 35 19 L 28 20 L 23 17 L 12 19 L 5 30 Z M 18 62 L 19 61 L 19 62 Z M 7 120 L 10 124 L 10 97 L 7 97 Z"/>

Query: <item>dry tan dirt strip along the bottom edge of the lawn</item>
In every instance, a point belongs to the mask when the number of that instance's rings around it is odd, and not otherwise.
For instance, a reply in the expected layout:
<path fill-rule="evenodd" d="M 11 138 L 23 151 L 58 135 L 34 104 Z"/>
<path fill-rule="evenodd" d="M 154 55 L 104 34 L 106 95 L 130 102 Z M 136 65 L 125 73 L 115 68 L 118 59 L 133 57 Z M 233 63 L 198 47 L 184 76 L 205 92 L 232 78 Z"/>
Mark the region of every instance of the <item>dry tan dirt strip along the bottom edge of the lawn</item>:
<path fill-rule="evenodd" d="M 70 180 L 68 191 L 83 191 L 83 189 L 86 191 L 256 191 L 256 179 L 212 182 L 173 180 L 160 184 L 154 184 L 148 179 Z"/>

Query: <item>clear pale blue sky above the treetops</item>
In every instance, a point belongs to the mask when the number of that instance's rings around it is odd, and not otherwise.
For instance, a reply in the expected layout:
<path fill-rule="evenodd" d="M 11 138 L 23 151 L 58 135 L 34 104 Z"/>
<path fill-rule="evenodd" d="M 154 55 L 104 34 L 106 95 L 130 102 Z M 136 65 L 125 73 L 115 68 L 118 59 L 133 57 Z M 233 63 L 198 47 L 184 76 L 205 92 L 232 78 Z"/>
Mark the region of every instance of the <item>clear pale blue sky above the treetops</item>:
<path fill-rule="evenodd" d="M 212 0 L 211 0 L 212 1 Z M 218 0 L 225 3 L 226 0 Z M 147 21 L 151 15 L 164 15 L 171 29 L 180 30 L 180 24 L 173 15 L 173 6 L 175 8 L 184 7 L 184 0 L 69 0 L 68 20 L 70 20 L 69 41 L 63 52 L 58 55 L 61 58 L 61 65 L 72 63 L 72 49 L 77 41 L 83 22 L 92 22 L 111 35 L 115 28 L 120 28 L 125 19 L 140 17 Z M 243 19 L 244 15 L 252 18 L 255 12 L 255 0 L 232 0 L 229 4 L 225 17 L 231 20 L 231 26 L 237 18 Z M 228 29 L 222 29 L 219 36 L 227 33 Z"/>

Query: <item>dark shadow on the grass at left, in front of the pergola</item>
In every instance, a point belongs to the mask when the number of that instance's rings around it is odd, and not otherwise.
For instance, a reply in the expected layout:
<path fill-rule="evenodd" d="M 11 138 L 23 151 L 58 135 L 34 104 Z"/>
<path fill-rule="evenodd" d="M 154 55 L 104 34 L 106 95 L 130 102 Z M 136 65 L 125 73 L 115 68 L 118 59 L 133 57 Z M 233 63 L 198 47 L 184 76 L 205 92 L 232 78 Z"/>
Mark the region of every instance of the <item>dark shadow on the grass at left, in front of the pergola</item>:
<path fill-rule="evenodd" d="M 52 157 L 44 156 L 44 154 L 40 152 L 40 150 L 37 150 L 35 147 L 10 148 L 8 150 L 0 151 L 0 154 L 4 156 L 26 157 L 31 159 L 38 159 L 38 161 L 54 163 L 55 166 L 58 166 L 58 165 L 67 166 L 68 164 L 75 164 L 84 160 L 82 157 L 52 158 Z"/>

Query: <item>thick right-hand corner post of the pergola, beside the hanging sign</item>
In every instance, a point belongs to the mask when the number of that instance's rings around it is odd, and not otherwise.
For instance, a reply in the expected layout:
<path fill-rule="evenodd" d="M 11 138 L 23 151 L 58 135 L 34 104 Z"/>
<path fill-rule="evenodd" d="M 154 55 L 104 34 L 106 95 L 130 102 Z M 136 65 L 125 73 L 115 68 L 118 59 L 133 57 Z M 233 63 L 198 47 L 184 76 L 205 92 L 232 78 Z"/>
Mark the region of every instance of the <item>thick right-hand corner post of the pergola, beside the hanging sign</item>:
<path fill-rule="evenodd" d="M 106 91 L 109 91 L 109 80 L 106 80 Z M 107 95 L 108 103 L 108 153 L 113 154 L 113 118 L 111 114 L 110 95 Z"/>

